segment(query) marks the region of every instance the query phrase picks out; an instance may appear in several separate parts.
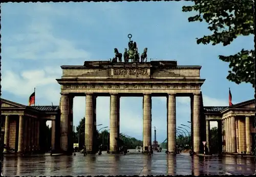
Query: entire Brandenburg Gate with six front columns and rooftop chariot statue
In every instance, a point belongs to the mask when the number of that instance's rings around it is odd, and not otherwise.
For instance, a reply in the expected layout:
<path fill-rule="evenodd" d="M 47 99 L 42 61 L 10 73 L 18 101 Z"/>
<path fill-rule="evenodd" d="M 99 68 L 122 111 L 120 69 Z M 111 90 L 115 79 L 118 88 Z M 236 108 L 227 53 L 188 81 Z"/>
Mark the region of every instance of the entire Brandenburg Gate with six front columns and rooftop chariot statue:
<path fill-rule="evenodd" d="M 191 98 L 191 132 L 193 150 L 200 150 L 200 79 L 201 66 L 178 66 L 177 61 L 147 62 L 147 48 L 141 56 L 136 42 L 129 36 L 129 50 L 115 48 L 110 61 L 85 61 L 81 66 L 61 66 L 60 148 L 73 147 L 73 98 L 86 96 L 85 145 L 93 153 L 96 131 L 96 97 L 110 96 L 110 153 L 118 152 L 119 108 L 121 96 L 143 97 L 143 150 L 152 145 L 152 96 L 167 98 L 167 151 L 176 151 L 176 97 Z M 122 57 L 124 61 L 122 61 Z M 202 122 L 203 124 L 204 122 Z"/>

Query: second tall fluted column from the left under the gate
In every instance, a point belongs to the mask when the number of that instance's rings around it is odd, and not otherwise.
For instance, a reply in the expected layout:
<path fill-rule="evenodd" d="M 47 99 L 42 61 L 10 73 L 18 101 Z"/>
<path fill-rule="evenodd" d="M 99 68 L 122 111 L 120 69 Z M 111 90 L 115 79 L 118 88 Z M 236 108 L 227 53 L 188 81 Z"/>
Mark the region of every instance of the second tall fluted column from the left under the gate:
<path fill-rule="evenodd" d="M 86 94 L 86 121 L 84 144 L 88 153 L 93 151 L 93 94 Z"/>

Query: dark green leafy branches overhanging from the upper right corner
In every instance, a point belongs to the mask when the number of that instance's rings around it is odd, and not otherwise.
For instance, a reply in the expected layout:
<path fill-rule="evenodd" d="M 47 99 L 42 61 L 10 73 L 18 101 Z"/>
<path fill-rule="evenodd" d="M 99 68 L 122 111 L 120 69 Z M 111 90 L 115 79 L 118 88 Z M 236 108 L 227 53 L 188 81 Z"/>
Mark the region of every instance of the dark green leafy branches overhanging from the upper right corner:
<path fill-rule="evenodd" d="M 254 34 L 253 1 L 232 0 L 206 1 L 191 0 L 194 6 L 183 6 L 183 12 L 198 11 L 199 14 L 189 17 L 188 21 L 200 21 L 203 19 L 209 24 L 208 29 L 212 31 L 209 36 L 197 38 L 197 44 L 216 45 L 223 43 L 223 46 L 230 44 L 238 36 Z M 254 50 L 241 50 L 235 55 L 219 56 L 219 59 L 229 62 L 227 79 L 240 84 L 251 83 L 254 87 Z"/>

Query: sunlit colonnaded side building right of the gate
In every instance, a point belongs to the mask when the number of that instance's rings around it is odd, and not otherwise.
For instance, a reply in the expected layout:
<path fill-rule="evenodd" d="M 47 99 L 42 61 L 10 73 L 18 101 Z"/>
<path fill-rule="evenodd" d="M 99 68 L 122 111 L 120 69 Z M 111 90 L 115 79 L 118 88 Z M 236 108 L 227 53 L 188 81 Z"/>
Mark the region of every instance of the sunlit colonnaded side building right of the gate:
<path fill-rule="evenodd" d="M 210 150 L 210 121 L 218 122 L 219 152 L 251 154 L 255 146 L 255 99 L 229 107 L 204 107 L 206 146 Z"/>

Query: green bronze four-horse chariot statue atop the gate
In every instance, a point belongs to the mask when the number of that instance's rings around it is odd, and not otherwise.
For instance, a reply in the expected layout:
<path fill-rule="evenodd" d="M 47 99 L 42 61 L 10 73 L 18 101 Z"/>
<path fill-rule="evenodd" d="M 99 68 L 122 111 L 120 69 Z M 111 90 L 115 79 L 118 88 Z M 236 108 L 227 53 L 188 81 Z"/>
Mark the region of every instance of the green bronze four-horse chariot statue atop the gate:
<path fill-rule="evenodd" d="M 131 62 L 146 62 L 147 61 L 147 54 L 146 54 L 147 48 L 144 48 L 143 53 L 140 56 L 138 53 L 138 48 L 137 48 L 136 42 L 131 41 L 132 37 L 133 36 L 131 34 L 128 35 L 128 38 L 130 39 L 130 41 L 128 42 L 129 50 L 127 51 L 127 48 L 124 48 L 123 55 L 118 52 L 117 48 L 114 48 L 115 57 L 113 59 L 110 59 L 112 63 L 122 62 L 122 56 L 124 59 L 124 63 L 128 63 L 129 60 L 131 60 Z"/>

